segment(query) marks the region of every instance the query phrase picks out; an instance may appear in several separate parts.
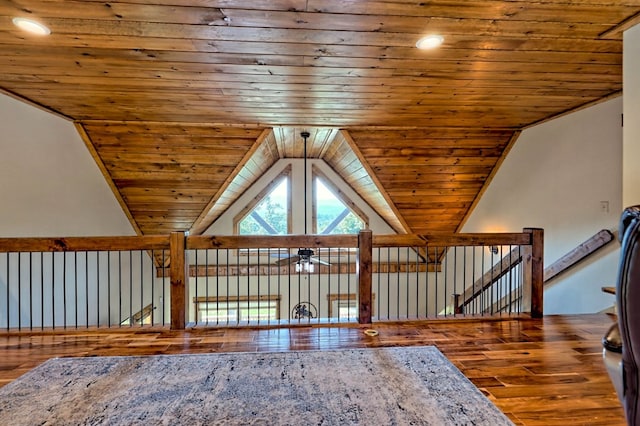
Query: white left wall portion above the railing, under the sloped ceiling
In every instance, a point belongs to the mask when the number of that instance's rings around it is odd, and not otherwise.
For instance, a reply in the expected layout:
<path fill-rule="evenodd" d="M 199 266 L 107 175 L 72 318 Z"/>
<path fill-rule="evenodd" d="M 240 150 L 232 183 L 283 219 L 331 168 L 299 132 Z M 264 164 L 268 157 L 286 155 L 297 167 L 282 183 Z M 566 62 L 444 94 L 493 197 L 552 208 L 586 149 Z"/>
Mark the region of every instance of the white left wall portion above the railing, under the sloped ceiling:
<path fill-rule="evenodd" d="M 135 235 L 73 123 L 0 94 L 0 236 Z"/>

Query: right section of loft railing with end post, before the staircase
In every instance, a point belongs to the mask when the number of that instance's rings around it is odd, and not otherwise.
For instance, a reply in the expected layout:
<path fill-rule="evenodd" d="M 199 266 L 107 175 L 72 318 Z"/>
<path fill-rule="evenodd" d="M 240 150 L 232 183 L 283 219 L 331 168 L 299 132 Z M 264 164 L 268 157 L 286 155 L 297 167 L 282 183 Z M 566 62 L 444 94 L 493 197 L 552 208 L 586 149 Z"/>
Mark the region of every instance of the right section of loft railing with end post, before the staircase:
<path fill-rule="evenodd" d="M 416 253 L 415 264 L 407 262 L 405 269 L 412 266 L 425 271 L 416 273 L 413 287 L 415 299 L 423 301 L 427 312 L 445 317 L 528 312 L 538 317 L 543 313 L 543 238 L 541 229 L 526 228 L 522 233 L 408 235 L 375 240 L 378 250 L 410 247 Z M 420 240 L 424 240 L 422 245 Z M 398 263 L 396 269 L 401 268 Z M 379 274 L 376 279 L 384 281 L 384 276 Z M 405 281 L 409 300 L 412 285 L 410 280 Z M 421 318 L 418 311 L 403 318 L 416 316 Z"/>

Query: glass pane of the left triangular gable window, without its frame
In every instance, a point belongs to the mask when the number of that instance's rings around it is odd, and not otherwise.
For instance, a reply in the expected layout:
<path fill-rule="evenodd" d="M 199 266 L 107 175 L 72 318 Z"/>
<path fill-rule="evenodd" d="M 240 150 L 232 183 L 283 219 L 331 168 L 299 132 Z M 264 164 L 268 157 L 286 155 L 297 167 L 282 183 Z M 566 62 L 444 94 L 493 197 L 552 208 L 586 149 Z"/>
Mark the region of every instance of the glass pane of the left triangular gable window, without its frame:
<path fill-rule="evenodd" d="M 282 181 L 244 219 L 240 235 L 283 235 L 287 233 L 288 179 Z"/>

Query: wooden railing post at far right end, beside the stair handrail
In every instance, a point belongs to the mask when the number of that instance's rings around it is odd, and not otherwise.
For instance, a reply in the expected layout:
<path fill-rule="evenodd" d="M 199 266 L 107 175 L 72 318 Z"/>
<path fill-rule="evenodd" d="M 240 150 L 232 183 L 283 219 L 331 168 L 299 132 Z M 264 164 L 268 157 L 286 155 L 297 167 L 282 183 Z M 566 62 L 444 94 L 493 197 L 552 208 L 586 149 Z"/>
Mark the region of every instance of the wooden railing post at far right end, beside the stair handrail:
<path fill-rule="evenodd" d="M 530 295 L 531 316 L 541 318 L 544 314 L 544 230 L 524 228 L 523 232 L 531 234 L 531 250 L 528 251 L 528 259 L 524 262 L 526 267 L 525 295 L 527 293 Z M 529 269 L 530 272 L 526 269 Z M 527 277 L 528 273 L 530 273 L 529 277 Z"/>

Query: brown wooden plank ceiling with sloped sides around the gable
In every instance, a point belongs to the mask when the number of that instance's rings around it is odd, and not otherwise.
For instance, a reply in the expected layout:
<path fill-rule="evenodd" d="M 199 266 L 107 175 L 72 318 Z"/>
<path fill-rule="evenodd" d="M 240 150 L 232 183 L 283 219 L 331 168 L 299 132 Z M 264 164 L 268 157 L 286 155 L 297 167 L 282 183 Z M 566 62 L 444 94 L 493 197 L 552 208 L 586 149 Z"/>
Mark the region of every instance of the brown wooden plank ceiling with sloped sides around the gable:
<path fill-rule="evenodd" d="M 0 88 L 76 123 L 141 234 L 312 153 L 399 232 L 456 231 L 519 132 L 622 89 L 640 0 L 5 0 Z M 38 37 L 11 19 L 31 17 Z M 421 51 L 437 33 L 444 44 Z"/>

